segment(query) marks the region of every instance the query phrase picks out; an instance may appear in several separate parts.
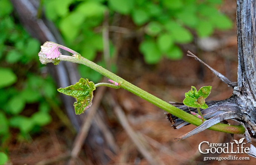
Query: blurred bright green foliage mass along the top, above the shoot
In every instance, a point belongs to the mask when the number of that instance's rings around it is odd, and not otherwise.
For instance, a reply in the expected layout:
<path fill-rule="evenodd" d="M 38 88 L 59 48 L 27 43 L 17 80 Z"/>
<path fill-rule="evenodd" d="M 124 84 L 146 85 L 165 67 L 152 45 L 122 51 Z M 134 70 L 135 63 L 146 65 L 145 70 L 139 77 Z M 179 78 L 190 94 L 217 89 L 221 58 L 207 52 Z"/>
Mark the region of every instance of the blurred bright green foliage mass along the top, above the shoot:
<path fill-rule="evenodd" d="M 232 22 L 218 10 L 221 3 L 222 0 L 44 1 L 47 17 L 59 27 L 68 46 L 89 60 L 103 50 L 102 35 L 95 28 L 102 26 L 104 12 L 110 13 L 110 26 L 116 14 L 130 17 L 136 26 L 130 30 L 143 29 L 139 50 L 148 64 L 158 63 L 162 57 L 181 59 L 183 53 L 177 44 L 192 42 L 193 34 L 206 37 L 215 29 L 231 28 Z"/>

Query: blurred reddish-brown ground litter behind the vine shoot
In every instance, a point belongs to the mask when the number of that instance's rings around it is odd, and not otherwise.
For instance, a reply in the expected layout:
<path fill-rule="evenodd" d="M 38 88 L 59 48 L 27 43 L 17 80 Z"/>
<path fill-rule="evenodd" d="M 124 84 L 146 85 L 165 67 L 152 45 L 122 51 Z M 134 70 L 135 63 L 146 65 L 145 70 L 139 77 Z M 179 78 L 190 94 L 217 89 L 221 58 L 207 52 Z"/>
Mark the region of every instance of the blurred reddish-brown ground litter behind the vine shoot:
<path fill-rule="evenodd" d="M 225 1 L 226 4 L 221 10 L 229 15 L 234 21 L 233 29 L 229 31 L 216 31 L 211 37 L 214 42 L 204 40 L 203 43 L 212 48 L 210 51 L 204 51 L 202 46 L 197 42 L 188 45 L 182 45 L 184 56 L 181 60 L 171 61 L 163 59 L 157 65 L 146 65 L 139 55 L 127 55 L 125 51 L 129 48 L 122 49 L 123 53 L 117 60 L 118 75 L 125 80 L 139 86 L 149 93 L 158 96 L 165 101 L 182 102 L 184 93 L 190 90 L 190 86 L 199 89 L 202 86 L 212 86 L 212 91 L 207 98 L 210 100 L 223 100 L 232 95 L 232 87 L 228 87 L 221 82 L 208 68 L 201 65 L 192 57 L 186 56 L 186 51 L 194 52 L 204 62 L 225 75 L 229 80 L 237 80 L 237 40 L 235 11 L 236 4 L 232 0 Z M 130 123 L 130 127 L 139 133 L 140 138 L 146 144 L 148 153 L 157 160 L 159 164 L 255 164 L 256 159 L 249 157 L 250 160 L 215 160 L 203 161 L 207 156 L 218 157 L 248 157 L 247 154 L 201 154 L 198 151 L 200 142 L 209 141 L 209 143 L 230 143 L 234 142 L 233 138 L 239 140 L 243 135 L 231 135 L 227 133 L 205 130 L 190 138 L 182 141 L 176 141 L 175 138 L 194 129 L 195 126 L 188 125 L 181 129 L 172 129 L 171 123 L 166 119 L 163 110 L 144 101 L 143 99 L 125 91 L 114 90 L 105 92 L 103 101 L 108 99 L 109 95 L 117 98 L 118 104 L 122 107 L 125 116 Z M 103 106 L 104 107 L 104 106 Z M 120 125 L 117 117 L 110 110 L 102 108 L 107 117 L 108 127 L 113 133 L 114 142 L 117 145 L 117 153 L 111 154 L 111 165 L 146 165 L 148 160 L 142 156 L 137 149 L 136 144 L 131 140 L 126 130 Z M 90 109 L 88 110 L 90 111 Z M 14 165 L 34 165 L 42 160 L 52 160 L 56 156 L 69 153 L 72 149 L 75 135 L 72 135 L 60 122 L 59 118 L 52 113 L 52 122 L 43 127 L 40 133 L 31 135 L 29 141 L 17 141 L 13 139 L 9 145 L 11 162 Z M 232 122 L 232 121 L 231 121 Z M 17 133 L 17 132 L 13 132 Z M 139 139 L 139 138 L 138 138 Z M 143 143 L 142 142 L 142 143 Z M 244 140 L 245 142 L 245 140 Z M 256 145 L 255 140 L 252 143 Z M 204 146 L 206 147 L 206 146 Z M 245 144 L 249 147 L 249 144 Z M 82 149 L 79 156 L 78 164 L 94 164 L 87 155 L 86 147 Z M 66 160 L 61 159 L 52 164 L 65 164 Z M 43 164 L 43 162 L 41 162 Z"/>

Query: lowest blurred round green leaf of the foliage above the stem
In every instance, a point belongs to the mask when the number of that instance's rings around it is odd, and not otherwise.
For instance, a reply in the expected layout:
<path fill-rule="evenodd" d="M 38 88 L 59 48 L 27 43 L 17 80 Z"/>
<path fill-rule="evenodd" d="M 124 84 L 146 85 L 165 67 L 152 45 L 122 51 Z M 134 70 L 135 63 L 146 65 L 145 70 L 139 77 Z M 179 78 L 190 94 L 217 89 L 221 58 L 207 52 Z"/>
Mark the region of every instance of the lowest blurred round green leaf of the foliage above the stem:
<path fill-rule="evenodd" d="M 145 40 L 140 44 L 140 51 L 144 54 L 145 62 L 155 64 L 160 61 L 162 53 L 154 40 Z"/>

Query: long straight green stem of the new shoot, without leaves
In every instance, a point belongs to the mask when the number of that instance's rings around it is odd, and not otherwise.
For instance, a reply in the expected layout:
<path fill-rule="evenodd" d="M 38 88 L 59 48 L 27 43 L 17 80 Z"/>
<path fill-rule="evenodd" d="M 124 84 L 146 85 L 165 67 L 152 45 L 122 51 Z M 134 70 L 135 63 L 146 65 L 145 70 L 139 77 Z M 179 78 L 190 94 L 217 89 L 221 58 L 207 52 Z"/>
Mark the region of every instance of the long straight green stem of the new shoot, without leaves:
<path fill-rule="evenodd" d="M 87 60 L 86 58 L 82 57 L 80 54 L 74 54 L 73 56 L 59 55 L 58 61 L 59 60 L 79 63 L 82 65 L 88 66 L 91 69 L 93 69 L 94 71 L 97 71 L 100 74 L 104 75 L 105 77 L 117 82 L 118 83 L 117 88 L 125 89 L 125 90 L 133 93 L 134 95 L 137 95 L 140 98 L 145 99 L 146 101 L 156 105 L 157 107 L 161 108 L 162 110 L 165 110 L 166 112 L 171 113 L 171 114 L 175 115 L 176 117 L 181 118 L 182 120 L 187 121 L 188 123 L 191 123 L 195 126 L 199 126 L 200 124 L 202 124 L 202 120 L 200 118 L 196 117 L 195 115 L 186 113 L 185 111 L 180 110 L 177 107 L 174 107 L 173 105 L 169 104 L 168 102 L 165 102 L 162 99 L 157 98 L 154 95 L 151 95 L 150 93 L 146 92 L 145 90 L 142 90 L 139 87 L 129 83 L 128 81 L 113 74 L 112 72 L 108 71 L 107 69 L 104 69 L 101 66 L 97 65 L 96 63 L 93 63 L 90 60 Z M 105 84 L 101 84 L 101 85 L 104 86 Z M 113 87 L 112 84 L 111 84 L 111 87 Z M 222 124 L 222 123 L 215 124 L 214 126 L 211 126 L 208 129 L 219 131 L 219 132 L 232 133 L 232 134 L 243 134 L 245 132 L 245 129 L 242 125 L 235 126 L 235 125 Z"/>

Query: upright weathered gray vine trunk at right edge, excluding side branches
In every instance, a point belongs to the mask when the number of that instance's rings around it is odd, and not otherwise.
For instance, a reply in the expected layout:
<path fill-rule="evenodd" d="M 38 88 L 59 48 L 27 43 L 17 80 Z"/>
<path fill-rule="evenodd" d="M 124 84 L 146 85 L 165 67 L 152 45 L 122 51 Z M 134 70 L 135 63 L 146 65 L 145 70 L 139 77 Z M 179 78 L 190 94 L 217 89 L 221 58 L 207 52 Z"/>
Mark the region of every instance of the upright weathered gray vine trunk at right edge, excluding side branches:
<path fill-rule="evenodd" d="M 233 91 L 243 123 L 253 137 L 256 132 L 255 4 L 255 0 L 237 0 L 238 86 Z"/>

